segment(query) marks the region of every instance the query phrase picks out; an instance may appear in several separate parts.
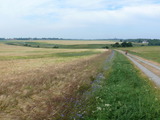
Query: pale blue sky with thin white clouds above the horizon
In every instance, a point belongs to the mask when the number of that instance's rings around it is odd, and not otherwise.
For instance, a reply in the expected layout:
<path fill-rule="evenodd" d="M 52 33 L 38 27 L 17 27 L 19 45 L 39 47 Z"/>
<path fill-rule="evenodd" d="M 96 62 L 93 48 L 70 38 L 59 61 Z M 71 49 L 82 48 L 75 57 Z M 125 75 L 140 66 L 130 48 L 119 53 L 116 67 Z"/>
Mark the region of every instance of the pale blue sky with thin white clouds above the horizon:
<path fill-rule="evenodd" d="M 160 38 L 160 0 L 0 0 L 0 37 Z"/>

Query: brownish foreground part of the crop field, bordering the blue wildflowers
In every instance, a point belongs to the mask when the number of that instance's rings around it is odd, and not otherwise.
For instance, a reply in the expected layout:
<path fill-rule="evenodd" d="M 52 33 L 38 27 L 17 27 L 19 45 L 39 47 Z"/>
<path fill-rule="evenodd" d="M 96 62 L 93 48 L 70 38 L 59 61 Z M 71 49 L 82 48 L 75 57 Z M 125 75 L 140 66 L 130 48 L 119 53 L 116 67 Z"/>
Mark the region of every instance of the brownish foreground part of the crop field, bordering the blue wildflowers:
<path fill-rule="evenodd" d="M 42 120 L 68 114 L 78 89 L 90 84 L 107 54 L 10 75 L 0 82 L 0 119 Z"/>

